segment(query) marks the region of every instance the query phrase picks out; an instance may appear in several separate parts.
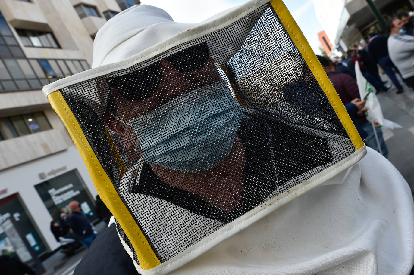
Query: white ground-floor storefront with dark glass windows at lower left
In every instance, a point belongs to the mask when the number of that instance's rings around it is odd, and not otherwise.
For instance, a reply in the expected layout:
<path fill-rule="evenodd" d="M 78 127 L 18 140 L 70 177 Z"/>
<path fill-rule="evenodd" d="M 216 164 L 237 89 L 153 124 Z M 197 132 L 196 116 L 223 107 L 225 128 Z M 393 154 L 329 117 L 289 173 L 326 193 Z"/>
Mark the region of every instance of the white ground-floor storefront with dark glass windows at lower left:
<path fill-rule="evenodd" d="M 97 192 L 75 146 L 48 157 L 0 171 L 0 224 L 8 218 L 36 256 L 57 249 L 50 225 L 78 201 L 91 222 L 97 222 Z M 27 242 L 26 242 L 27 241 Z M 0 227 L 0 253 L 16 253 Z"/>

